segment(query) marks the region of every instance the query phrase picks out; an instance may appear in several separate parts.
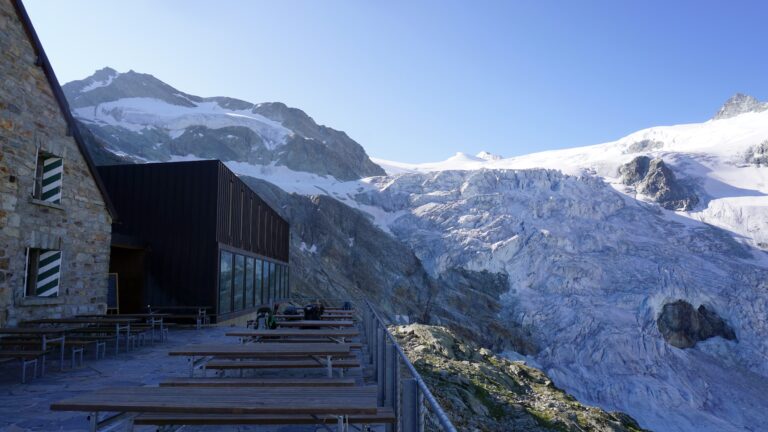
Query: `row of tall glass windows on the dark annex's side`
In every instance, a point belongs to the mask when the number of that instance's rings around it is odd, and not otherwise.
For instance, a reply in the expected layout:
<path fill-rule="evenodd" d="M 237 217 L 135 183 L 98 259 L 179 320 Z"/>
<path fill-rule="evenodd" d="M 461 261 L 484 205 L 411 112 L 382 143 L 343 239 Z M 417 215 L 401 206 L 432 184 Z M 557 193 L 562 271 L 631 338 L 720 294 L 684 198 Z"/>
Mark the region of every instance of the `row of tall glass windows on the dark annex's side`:
<path fill-rule="evenodd" d="M 219 314 L 269 305 L 289 295 L 288 265 L 222 249 Z"/>

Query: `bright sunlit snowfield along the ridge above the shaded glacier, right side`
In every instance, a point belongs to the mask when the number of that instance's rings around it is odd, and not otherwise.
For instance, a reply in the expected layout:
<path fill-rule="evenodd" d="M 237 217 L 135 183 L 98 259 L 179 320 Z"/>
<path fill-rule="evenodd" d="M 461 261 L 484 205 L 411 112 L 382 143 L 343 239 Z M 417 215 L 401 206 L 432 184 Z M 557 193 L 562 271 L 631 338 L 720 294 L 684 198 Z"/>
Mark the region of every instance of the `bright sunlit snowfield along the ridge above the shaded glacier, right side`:
<path fill-rule="evenodd" d="M 732 112 L 734 97 L 720 113 Z M 752 98 L 753 99 L 753 98 Z M 768 104 L 762 104 L 768 106 Z M 626 184 L 621 168 L 639 156 L 660 159 L 696 196 L 682 212 L 738 234 L 768 250 L 768 110 L 750 109 L 719 120 L 644 129 L 614 142 L 498 160 L 459 153 L 443 162 L 404 164 L 374 160 L 390 174 L 445 170 L 547 168 L 603 178 L 617 190 L 653 201 Z"/>

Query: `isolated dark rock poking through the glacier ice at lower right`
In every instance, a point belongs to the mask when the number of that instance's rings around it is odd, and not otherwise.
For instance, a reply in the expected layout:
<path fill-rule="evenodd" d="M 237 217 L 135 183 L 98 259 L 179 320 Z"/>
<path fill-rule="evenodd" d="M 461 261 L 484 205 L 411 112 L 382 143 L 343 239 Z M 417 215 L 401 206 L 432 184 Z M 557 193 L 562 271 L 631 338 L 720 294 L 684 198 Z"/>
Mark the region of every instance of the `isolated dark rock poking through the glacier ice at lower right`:
<path fill-rule="evenodd" d="M 678 348 L 691 348 L 715 336 L 736 339 L 733 329 L 717 313 L 704 305 L 694 309 L 685 300 L 665 304 L 656 322 L 664 340 Z"/>

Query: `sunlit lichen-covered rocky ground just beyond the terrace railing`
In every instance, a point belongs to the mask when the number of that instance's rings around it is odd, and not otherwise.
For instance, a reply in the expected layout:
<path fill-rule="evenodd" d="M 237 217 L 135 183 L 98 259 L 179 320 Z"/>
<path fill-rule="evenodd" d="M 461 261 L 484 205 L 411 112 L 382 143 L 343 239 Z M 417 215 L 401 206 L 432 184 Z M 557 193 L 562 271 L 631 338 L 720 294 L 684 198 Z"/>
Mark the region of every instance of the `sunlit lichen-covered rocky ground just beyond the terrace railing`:
<path fill-rule="evenodd" d="M 629 416 L 579 403 L 542 371 L 494 355 L 443 327 L 391 327 L 461 431 L 639 432 Z M 427 430 L 438 430 L 433 421 Z"/>

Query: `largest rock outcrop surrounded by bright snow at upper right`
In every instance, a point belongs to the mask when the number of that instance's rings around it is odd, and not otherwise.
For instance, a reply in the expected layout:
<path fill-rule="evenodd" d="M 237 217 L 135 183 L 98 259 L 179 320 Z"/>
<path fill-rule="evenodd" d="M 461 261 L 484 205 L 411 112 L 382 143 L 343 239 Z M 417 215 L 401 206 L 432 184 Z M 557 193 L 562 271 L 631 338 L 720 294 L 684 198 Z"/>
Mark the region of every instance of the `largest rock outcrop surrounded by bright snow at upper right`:
<path fill-rule="evenodd" d="M 662 159 L 638 156 L 619 167 L 622 183 L 635 186 L 667 210 L 692 210 L 699 202 L 692 188 L 681 183 Z"/>

